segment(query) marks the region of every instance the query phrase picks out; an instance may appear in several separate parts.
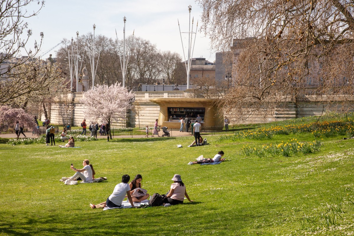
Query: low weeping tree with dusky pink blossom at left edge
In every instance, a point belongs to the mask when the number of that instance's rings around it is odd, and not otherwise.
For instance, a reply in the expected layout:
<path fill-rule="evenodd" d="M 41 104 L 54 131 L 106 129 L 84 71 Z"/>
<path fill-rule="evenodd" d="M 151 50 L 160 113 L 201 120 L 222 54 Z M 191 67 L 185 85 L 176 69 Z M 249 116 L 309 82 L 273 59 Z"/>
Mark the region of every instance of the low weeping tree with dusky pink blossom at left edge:
<path fill-rule="evenodd" d="M 37 131 L 34 117 L 21 108 L 12 108 L 6 105 L 0 106 L 0 127 L 15 127 L 15 122 L 19 121 L 23 127 Z"/>

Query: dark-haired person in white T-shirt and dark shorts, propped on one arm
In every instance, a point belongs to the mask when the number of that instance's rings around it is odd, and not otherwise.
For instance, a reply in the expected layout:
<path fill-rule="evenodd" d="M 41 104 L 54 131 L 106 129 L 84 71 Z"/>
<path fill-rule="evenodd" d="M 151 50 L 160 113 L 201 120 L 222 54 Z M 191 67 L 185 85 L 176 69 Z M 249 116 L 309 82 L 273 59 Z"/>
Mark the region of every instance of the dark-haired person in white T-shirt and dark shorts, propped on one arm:
<path fill-rule="evenodd" d="M 125 174 L 122 176 L 122 183 L 119 183 L 115 185 L 115 188 L 113 190 L 113 193 L 109 195 L 107 200 L 105 202 L 93 205 L 90 203 L 90 207 L 92 209 L 95 208 L 104 208 L 105 206 L 107 207 L 120 207 L 122 205 L 122 202 L 125 198 L 125 196 L 128 196 L 130 205 L 132 207 L 135 207 L 133 204 L 132 196 L 130 195 L 130 187 L 129 187 L 129 182 L 130 176 Z"/>

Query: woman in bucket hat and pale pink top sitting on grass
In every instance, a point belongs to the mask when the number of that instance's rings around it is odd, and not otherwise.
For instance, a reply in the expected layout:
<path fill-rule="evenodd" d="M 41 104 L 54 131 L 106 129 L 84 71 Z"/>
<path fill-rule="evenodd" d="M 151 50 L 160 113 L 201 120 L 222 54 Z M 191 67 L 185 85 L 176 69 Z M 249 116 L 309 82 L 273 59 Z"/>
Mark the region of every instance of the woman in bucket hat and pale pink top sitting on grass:
<path fill-rule="evenodd" d="M 173 184 L 171 184 L 171 189 L 169 193 L 166 195 L 164 200 L 165 207 L 170 205 L 182 204 L 184 200 L 184 196 L 187 197 L 188 201 L 193 202 L 189 199 L 187 194 L 187 190 L 185 190 L 185 185 L 182 182 L 181 175 L 175 174 L 172 178 Z"/>

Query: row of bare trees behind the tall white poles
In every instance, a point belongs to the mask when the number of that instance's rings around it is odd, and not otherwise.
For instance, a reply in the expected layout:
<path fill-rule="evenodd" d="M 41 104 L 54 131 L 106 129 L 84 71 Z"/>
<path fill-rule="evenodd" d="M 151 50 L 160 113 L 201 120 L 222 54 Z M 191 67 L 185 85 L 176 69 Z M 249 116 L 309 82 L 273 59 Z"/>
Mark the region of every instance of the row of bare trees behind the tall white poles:
<path fill-rule="evenodd" d="M 91 71 L 91 68 L 88 47 L 90 46 L 89 42 L 92 41 L 91 38 L 91 33 L 80 36 L 78 46 L 80 52 L 79 64 L 81 64 L 82 61 L 82 65 L 86 65 L 89 71 Z M 76 44 L 74 48 L 76 50 Z M 64 39 L 63 46 L 57 51 L 57 60 L 63 65 L 64 74 L 70 81 L 68 50 L 70 50 L 71 54 L 71 41 Z M 96 62 L 98 60 L 98 54 L 101 53 L 95 77 L 96 83 L 99 85 L 112 85 L 116 82 L 122 82 L 122 42 L 107 38 L 104 35 L 98 35 L 95 39 L 95 51 Z M 126 56 L 128 55 L 129 61 L 126 60 L 127 70 L 125 82 L 126 86 L 132 89 L 137 90 L 139 84 L 162 82 L 163 78 L 166 84 L 185 83 L 186 76 L 183 74 L 184 68 L 179 65 L 182 59 L 178 53 L 172 53 L 170 51 L 161 52 L 157 49 L 156 45 L 152 44 L 149 40 L 129 36 L 126 38 Z M 89 77 L 91 78 L 91 73 L 89 73 Z M 73 83 L 74 89 L 75 83 L 76 82 Z"/>

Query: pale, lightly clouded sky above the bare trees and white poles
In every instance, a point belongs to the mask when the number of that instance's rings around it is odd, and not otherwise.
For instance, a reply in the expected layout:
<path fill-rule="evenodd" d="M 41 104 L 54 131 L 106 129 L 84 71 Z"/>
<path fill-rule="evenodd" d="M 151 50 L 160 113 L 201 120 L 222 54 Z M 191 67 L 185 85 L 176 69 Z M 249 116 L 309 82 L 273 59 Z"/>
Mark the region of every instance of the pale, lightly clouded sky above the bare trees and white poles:
<path fill-rule="evenodd" d="M 159 50 L 177 52 L 185 59 L 188 52 L 188 33 L 179 34 L 178 22 L 182 32 L 189 31 L 188 5 L 192 5 L 192 17 L 194 17 L 195 32 L 196 22 L 198 31 L 195 39 L 193 57 L 204 57 L 208 61 L 215 61 L 215 51 L 211 49 L 210 39 L 200 32 L 201 8 L 193 0 L 45 0 L 45 6 L 37 16 L 26 19 L 33 35 L 29 46 L 33 46 L 34 40 L 39 40 L 40 32 L 44 33 L 41 46 L 41 55 L 53 46 L 59 44 L 63 38 L 71 39 L 79 35 L 93 33 L 92 25 L 96 24 L 95 34 L 102 34 L 109 38 L 123 38 L 123 17 L 126 17 L 126 37 L 133 33 L 145 40 L 149 40 Z M 33 11 L 38 5 L 32 4 L 28 11 Z M 55 50 L 58 47 L 42 55 L 42 58 L 56 57 Z"/>

